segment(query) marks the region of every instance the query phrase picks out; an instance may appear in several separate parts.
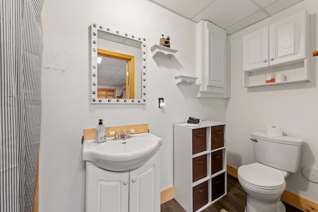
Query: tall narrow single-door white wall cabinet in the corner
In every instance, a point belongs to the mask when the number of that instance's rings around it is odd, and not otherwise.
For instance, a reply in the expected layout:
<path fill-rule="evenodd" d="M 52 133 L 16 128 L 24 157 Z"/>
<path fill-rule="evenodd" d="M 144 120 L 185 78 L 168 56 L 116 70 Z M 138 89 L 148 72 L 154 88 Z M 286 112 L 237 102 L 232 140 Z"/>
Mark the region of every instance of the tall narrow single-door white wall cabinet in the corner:
<path fill-rule="evenodd" d="M 206 20 L 197 23 L 196 31 L 197 76 L 200 83 L 197 97 L 229 98 L 226 31 Z"/>

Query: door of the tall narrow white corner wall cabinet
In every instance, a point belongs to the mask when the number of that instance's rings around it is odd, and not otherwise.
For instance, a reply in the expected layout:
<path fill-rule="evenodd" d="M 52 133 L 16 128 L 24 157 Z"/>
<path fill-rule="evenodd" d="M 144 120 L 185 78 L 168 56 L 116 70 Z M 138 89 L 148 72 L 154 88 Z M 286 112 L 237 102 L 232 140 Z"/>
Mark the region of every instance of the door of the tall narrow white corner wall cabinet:
<path fill-rule="evenodd" d="M 227 34 L 213 23 L 207 23 L 207 86 L 227 86 Z"/>

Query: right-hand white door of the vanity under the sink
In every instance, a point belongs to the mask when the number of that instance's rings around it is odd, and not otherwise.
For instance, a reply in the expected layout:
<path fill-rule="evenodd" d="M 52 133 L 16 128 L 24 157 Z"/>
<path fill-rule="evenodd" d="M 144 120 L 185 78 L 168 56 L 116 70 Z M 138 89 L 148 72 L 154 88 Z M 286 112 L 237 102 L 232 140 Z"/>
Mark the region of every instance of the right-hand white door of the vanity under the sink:
<path fill-rule="evenodd" d="M 130 171 L 129 212 L 160 212 L 160 151 Z"/>

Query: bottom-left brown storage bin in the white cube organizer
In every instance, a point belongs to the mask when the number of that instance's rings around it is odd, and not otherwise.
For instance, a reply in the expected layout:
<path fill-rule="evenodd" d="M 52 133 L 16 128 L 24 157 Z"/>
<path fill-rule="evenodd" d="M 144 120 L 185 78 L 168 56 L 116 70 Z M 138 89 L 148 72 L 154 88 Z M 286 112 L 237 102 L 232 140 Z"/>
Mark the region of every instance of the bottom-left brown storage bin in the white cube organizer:
<path fill-rule="evenodd" d="M 193 212 L 208 204 L 208 181 L 192 188 Z"/>

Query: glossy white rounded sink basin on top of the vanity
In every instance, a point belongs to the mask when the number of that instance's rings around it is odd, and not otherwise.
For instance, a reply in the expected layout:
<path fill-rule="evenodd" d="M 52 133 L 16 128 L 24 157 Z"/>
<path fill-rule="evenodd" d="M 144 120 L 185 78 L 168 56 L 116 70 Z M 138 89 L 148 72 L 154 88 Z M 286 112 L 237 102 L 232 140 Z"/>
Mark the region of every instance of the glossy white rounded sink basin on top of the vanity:
<path fill-rule="evenodd" d="M 131 139 L 103 143 L 83 142 L 83 160 L 110 171 L 127 171 L 145 164 L 162 145 L 162 139 L 150 133 L 132 135 Z"/>

